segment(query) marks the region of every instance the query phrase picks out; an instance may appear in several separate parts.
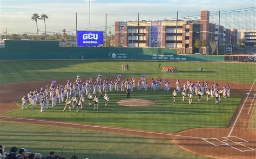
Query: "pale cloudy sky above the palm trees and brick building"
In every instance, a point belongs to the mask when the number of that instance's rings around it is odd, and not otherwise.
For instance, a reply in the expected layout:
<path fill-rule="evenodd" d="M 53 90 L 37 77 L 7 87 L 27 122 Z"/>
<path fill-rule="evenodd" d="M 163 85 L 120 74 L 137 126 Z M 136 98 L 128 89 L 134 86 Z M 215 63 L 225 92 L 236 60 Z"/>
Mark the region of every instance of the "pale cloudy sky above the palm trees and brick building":
<path fill-rule="evenodd" d="M 89 27 L 89 0 L 0 0 L 0 34 L 36 33 L 36 23 L 31 20 L 32 13 L 45 13 L 46 30 L 49 33 L 61 32 L 65 28 L 72 33 L 76 28 L 75 13 L 77 12 L 78 30 Z M 104 30 L 105 14 L 107 13 L 108 30 L 114 32 L 114 21 L 174 19 L 177 11 L 179 17 L 200 15 L 201 10 L 211 13 L 256 6 L 255 0 L 91 0 L 91 27 Z M 196 18 L 194 18 L 196 19 Z M 218 23 L 218 15 L 210 20 Z M 230 22 L 232 21 L 232 22 Z M 234 22 L 235 21 L 235 22 Z M 221 23 L 226 27 L 255 29 L 255 8 L 241 13 L 221 15 Z M 232 23 L 232 24 L 231 24 Z M 43 21 L 38 21 L 39 32 L 44 31 Z"/>

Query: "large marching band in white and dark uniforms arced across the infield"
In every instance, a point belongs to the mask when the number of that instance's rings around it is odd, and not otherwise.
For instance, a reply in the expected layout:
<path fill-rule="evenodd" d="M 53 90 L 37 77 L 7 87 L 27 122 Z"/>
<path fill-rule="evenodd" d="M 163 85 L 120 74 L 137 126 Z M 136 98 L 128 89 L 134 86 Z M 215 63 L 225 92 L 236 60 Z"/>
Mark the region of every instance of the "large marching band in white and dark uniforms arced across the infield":
<path fill-rule="evenodd" d="M 151 80 L 151 89 L 153 91 L 157 91 L 162 89 L 162 85 L 164 84 L 164 90 L 169 92 L 170 91 L 170 80 L 165 79 L 162 82 L 162 79 L 159 77 L 158 79 Z M 188 103 L 192 103 L 193 95 L 198 96 L 198 102 L 201 102 L 201 96 L 206 95 L 207 101 L 210 100 L 211 97 L 215 98 L 215 103 L 221 100 L 221 97 L 229 97 L 230 96 L 230 86 L 227 84 L 220 88 L 218 84 L 213 84 L 211 87 L 208 85 L 207 82 L 200 82 L 198 81 L 196 84 L 194 82 L 187 82 L 183 85 L 183 90 L 181 91 L 180 88 L 180 81 L 177 79 L 175 86 L 176 89 L 173 90 L 173 103 L 176 102 L 177 93 L 181 93 L 183 96 L 183 102 L 185 101 L 186 96 L 188 97 Z M 66 85 L 59 84 L 58 86 L 55 85 L 55 82 L 52 82 L 51 85 L 46 85 L 45 88 L 36 89 L 35 91 L 30 91 L 28 96 L 23 96 L 22 98 L 22 109 L 28 108 L 27 102 L 29 101 L 29 105 L 32 106 L 33 109 L 36 109 L 37 103 L 41 106 L 41 112 L 44 110 L 49 109 L 49 105 L 51 107 L 55 107 L 57 102 L 63 103 L 65 102 L 65 107 L 63 111 L 66 109 L 76 109 L 76 112 L 79 109 L 84 109 L 84 105 L 86 103 L 87 98 L 87 105 L 91 106 L 91 103 L 94 104 L 94 110 L 98 110 L 98 103 L 102 101 L 105 103 L 105 107 L 109 102 L 109 96 L 107 92 L 112 91 L 126 91 L 129 89 L 133 91 L 136 88 L 137 91 L 145 90 L 147 91 L 147 81 L 145 76 L 142 76 L 136 82 L 136 78 L 125 78 L 123 81 L 120 80 L 120 77 L 116 77 L 114 81 L 108 80 L 105 78 L 102 80 L 101 76 L 99 76 L 95 82 L 93 82 L 92 78 L 86 79 L 85 82 L 82 82 L 80 76 L 77 76 L 75 82 L 71 83 L 67 80 Z M 103 92 L 105 91 L 105 95 Z M 99 92 L 99 97 L 96 93 Z M 93 97 L 94 96 L 94 97 Z"/>

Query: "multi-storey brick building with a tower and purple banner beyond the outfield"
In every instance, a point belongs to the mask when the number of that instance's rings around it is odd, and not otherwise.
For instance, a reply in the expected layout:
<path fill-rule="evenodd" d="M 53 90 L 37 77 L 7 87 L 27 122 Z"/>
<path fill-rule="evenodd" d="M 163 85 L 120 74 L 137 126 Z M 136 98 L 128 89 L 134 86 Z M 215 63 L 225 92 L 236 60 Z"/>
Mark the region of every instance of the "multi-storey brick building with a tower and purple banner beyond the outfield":
<path fill-rule="evenodd" d="M 139 42 L 139 47 L 177 48 L 179 53 L 195 53 L 199 52 L 194 47 L 196 40 L 219 40 L 220 45 L 230 46 L 237 42 L 236 37 L 237 30 L 210 23 L 209 11 L 201 11 L 200 20 L 139 21 L 139 30 L 138 21 L 115 22 L 115 45 L 120 47 L 138 47 Z M 209 51 L 209 47 L 201 50 L 204 54 Z"/>

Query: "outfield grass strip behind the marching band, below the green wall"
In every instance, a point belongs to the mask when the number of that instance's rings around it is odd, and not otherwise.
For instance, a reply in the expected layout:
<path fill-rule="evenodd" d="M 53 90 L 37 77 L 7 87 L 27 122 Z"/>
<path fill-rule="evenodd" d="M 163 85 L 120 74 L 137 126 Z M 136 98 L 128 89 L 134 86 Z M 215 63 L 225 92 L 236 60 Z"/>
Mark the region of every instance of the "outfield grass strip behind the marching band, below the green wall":
<path fill-rule="evenodd" d="M 122 63 L 129 63 L 130 70 L 122 73 Z M 161 73 L 157 61 L 110 61 L 110 60 L 55 60 L 55 61 L 1 61 L 0 83 L 40 81 L 46 79 L 82 77 L 147 77 L 205 79 L 252 83 L 255 79 L 256 65 L 251 63 L 213 63 L 213 62 L 161 62 L 161 66 L 176 66 L 176 74 Z M 199 67 L 203 66 L 201 73 Z M 246 77 L 246 78 L 244 78 Z"/>

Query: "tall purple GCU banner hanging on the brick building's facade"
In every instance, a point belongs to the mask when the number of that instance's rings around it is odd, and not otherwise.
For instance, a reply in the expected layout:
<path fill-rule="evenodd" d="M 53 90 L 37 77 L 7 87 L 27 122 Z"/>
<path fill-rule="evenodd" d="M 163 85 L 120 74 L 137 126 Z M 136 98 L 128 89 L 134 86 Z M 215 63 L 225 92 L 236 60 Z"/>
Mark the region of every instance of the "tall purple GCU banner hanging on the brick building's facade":
<path fill-rule="evenodd" d="M 150 47 L 161 46 L 161 21 L 151 21 Z"/>

